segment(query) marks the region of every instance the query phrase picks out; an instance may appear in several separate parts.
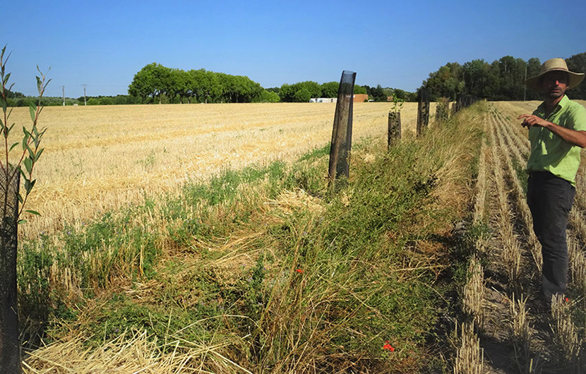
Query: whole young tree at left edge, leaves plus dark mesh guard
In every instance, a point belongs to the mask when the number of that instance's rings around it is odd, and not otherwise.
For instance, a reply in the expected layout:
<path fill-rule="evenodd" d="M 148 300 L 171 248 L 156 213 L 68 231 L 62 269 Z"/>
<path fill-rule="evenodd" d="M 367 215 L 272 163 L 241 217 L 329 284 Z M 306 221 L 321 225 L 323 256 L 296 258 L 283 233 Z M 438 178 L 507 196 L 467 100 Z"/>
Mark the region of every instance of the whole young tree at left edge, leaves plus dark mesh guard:
<path fill-rule="evenodd" d="M 37 76 L 37 90 L 39 91 L 39 104 L 30 104 L 30 130 L 23 126 L 22 140 L 12 143 L 12 130 L 16 123 L 10 123 L 12 109 L 8 109 L 7 93 L 13 85 L 8 86 L 10 73 L 6 73 L 6 61 L 4 59 L 6 46 L 0 52 L 0 103 L 2 105 L 2 117 L 0 119 L 0 132 L 4 138 L 4 155 L 0 154 L 0 198 L 2 216 L 0 217 L 0 368 L 4 373 L 20 373 L 20 344 L 18 342 L 18 306 L 16 290 L 16 245 L 18 238 L 18 222 L 23 215 L 23 208 L 35 179 L 32 172 L 35 169 L 39 157 L 43 152 L 40 147 L 42 136 L 47 130 L 37 128 L 37 122 L 42 110 L 40 100 L 49 80 L 39 70 Z M 22 147 L 22 151 L 15 148 Z M 23 169 L 24 165 L 24 169 Z M 20 177 L 24 180 L 25 194 L 20 194 Z M 20 204 L 20 208 L 18 205 Z M 37 212 L 27 210 L 32 214 Z"/>

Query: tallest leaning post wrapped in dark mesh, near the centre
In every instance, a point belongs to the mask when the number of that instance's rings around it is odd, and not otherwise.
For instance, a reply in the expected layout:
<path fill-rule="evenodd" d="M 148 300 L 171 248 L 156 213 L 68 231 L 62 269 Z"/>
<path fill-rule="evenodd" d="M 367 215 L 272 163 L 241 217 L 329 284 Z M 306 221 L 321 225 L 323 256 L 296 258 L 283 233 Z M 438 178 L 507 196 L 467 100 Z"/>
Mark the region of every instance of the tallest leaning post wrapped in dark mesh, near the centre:
<path fill-rule="evenodd" d="M 330 147 L 330 186 L 341 175 L 349 176 L 349 157 L 352 148 L 352 102 L 354 101 L 354 71 L 342 71 L 337 90 L 336 112 Z"/>

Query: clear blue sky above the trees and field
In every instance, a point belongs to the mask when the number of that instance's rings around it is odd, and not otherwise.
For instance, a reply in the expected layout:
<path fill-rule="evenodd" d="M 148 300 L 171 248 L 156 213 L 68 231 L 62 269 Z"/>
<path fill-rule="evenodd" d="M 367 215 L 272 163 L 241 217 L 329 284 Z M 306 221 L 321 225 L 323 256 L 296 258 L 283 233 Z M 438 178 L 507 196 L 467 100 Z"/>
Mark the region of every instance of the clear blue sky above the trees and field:
<path fill-rule="evenodd" d="M 134 74 L 169 68 L 248 76 L 263 87 L 339 81 L 416 90 L 448 62 L 542 62 L 586 52 L 586 3 L 553 1 L 0 0 L 13 90 L 126 94 Z M 48 71 L 49 66 L 51 71 Z"/>

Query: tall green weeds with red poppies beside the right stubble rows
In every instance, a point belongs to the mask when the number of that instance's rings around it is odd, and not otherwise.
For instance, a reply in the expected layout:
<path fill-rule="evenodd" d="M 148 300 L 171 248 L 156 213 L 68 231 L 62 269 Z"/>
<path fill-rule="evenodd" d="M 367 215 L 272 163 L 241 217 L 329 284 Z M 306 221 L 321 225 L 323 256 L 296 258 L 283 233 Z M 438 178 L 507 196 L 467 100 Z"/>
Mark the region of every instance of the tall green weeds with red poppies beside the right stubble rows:
<path fill-rule="evenodd" d="M 450 122 L 389 152 L 363 145 L 348 188 L 323 212 L 292 212 L 273 227 L 281 267 L 258 324 L 261 366 L 417 367 L 479 147 L 481 132 L 463 126 Z"/>

